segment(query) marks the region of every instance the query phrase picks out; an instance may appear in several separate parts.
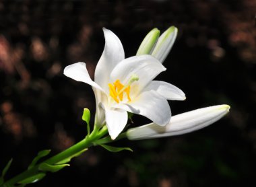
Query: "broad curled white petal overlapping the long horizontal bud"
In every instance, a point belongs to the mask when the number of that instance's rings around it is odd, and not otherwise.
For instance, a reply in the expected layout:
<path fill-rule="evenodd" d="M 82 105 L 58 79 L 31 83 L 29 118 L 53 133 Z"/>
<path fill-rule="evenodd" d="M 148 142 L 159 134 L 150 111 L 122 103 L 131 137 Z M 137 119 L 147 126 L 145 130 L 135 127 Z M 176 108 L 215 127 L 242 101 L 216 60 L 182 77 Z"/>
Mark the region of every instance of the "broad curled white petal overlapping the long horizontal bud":
<path fill-rule="evenodd" d="M 160 126 L 170 121 L 171 112 L 167 100 L 154 90 L 142 92 L 131 103 L 118 104 L 115 107 L 146 116 Z"/>

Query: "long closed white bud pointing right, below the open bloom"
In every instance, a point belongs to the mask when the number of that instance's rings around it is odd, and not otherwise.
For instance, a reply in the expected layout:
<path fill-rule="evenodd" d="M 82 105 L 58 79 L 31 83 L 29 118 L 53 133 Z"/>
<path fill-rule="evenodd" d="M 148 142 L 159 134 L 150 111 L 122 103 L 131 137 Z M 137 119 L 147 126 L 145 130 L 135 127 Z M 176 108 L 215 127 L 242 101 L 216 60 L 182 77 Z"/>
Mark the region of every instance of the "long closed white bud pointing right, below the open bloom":
<path fill-rule="evenodd" d="M 228 113 L 230 106 L 218 105 L 200 108 L 172 116 L 166 126 L 158 126 L 154 122 L 127 130 L 130 140 L 154 139 L 191 133 L 208 126 Z"/>

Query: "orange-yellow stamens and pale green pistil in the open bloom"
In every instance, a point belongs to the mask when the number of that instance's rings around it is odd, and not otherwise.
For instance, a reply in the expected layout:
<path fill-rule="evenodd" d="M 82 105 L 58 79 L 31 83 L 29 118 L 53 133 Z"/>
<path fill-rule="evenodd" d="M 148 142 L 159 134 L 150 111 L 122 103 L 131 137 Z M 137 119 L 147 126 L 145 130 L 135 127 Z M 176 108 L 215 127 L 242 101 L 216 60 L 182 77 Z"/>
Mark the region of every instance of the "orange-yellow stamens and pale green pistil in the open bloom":
<path fill-rule="evenodd" d="M 131 83 L 134 81 L 139 80 L 139 77 L 137 75 L 131 75 L 131 78 L 129 79 L 127 85 L 123 85 L 119 79 L 117 79 L 114 83 L 108 83 L 109 87 L 109 96 L 115 100 L 115 102 L 119 103 L 120 101 L 123 101 L 123 93 L 125 92 L 127 99 L 129 102 L 131 102 L 130 98 L 130 89 L 131 89 Z"/>

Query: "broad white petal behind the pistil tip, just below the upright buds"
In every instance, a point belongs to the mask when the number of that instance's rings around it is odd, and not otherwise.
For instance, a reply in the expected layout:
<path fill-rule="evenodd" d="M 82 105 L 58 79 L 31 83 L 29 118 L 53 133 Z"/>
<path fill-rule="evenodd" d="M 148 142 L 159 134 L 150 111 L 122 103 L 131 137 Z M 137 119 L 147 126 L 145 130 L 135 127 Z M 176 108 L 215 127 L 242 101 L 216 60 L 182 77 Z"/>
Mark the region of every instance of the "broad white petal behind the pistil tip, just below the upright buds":
<path fill-rule="evenodd" d="M 148 54 L 127 58 L 119 63 L 110 77 L 112 81 L 119 79 L 121 83 L 127 84 L 132 75 L 137 75 L 139 80 L 137 84 L 141 91 L 152 79 L 166 68 L 154 57 Z M 131 90 L 132 91 L 132 90 Z"/>

